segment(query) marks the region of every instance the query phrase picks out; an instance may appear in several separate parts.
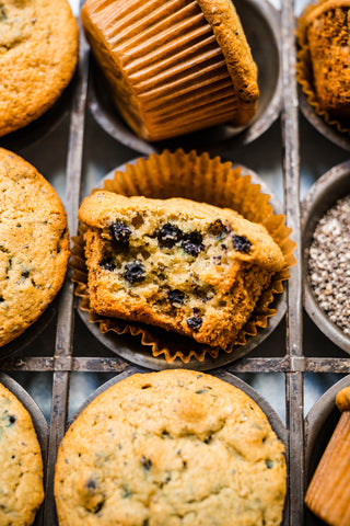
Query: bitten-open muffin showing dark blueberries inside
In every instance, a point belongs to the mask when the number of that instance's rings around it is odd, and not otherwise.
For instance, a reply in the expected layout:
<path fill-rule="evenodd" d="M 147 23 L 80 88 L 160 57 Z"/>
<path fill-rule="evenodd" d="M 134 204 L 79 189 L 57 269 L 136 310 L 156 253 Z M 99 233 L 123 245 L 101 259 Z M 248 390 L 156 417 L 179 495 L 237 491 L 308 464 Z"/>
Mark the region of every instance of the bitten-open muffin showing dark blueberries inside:
<path fill-rule="evenodd" d="M 184 198 L 95 192 L 88 226 L 91 308 L 226 348 L 284 267 L 267 230 L 228 208 Z"/>

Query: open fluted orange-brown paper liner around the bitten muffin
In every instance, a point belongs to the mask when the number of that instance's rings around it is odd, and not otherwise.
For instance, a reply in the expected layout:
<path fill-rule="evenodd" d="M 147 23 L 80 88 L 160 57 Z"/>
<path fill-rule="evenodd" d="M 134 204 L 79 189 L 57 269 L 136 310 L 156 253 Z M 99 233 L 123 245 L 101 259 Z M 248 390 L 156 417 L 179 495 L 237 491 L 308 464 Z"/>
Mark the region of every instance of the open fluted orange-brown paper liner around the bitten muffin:
<path fill-rule="evenodd" d="M 270 196 L 260 192 L 260 185 L 252 184 L 250 175 L 241 175 L 241 168 L 232 169 L 231 162 L 222 163 L 219 157 L 210 159 L 208 153 L 198 156 L 196 151 L 185 153 L 182 149 L 174 153 L 165 150 L 162 155 L 151 155 L 149 159 L 138 159 L 136 164 L 127 164 L 125 172 L 115 172 L 114 180 L 105 180 L 104 190 L 122 195 L 144 195 L 152 198 L 187 197 L 237 210 L 246 219 L 266 227 L 284 255 L 285 267 L 276 274 L 266 289 L 248 322 L 238 334 L 235 344 L 244 345 L 247 336 L 255 336 L 257 328 L 265 328 L 268 318 L 276 313 L 269 307 L 276 294 L 283 291 L 288 268 L 295 264 L 295 243 L 289 238 L 291 229 L 284 225 L 284 215 L 275 215 L 268 204 Z M 206 354 L 212 358 L 219 355 L 219 347 L 202 345 L 190 338 L 156 329 L 141 323 L 128 323 L 96 316 L 89 305 L 88 272 L 84 262 L 83 225 L 79 236 L 73 238 L 72 279 L 78 284 L 75 294 L 82 298 L 80 308 L 89 311 L 91 322 L 100 323 L 102 332 L 113 330 L 117 334 L 140 335 L 143 345 L 150 345 L 153 356 L 164 355 L 166 362 L 180 358 L 188 363 L 191 357 L 202 362 Z M 231 353 L 232 344 L 225 350 Z"/>

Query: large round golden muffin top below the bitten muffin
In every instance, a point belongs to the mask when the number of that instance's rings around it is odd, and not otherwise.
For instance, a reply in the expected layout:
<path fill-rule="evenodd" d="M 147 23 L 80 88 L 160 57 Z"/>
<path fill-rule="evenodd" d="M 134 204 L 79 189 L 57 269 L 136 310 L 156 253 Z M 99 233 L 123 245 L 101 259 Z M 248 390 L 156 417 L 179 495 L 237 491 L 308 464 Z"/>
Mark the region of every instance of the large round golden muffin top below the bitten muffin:
<path fill-rule="evenodd" d="M 59 447 L 59 525 L 278 526 L 285 471 L 283 444 L 240 389 L 192 370 L 133 375 Z"/>

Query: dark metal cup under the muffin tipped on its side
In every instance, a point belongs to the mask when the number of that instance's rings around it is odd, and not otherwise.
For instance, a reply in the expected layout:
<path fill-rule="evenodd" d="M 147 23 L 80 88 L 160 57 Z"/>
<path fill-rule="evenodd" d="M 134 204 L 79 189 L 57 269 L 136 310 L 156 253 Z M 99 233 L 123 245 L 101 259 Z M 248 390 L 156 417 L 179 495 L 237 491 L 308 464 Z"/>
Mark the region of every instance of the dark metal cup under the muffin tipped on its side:
<path fill-rule="evenodd" d="M 184 140 L 187 149 L 208 149 L 210 146 L 237 148 L 262 135 L 279 116 L 281 105 L 279 12 L 267 0 L 236 0 L 235 7 L 259 71 L 257 113 L 247 127 L 215 126 L 180 138 L 148 142 L 138 137 L 119 116 L 108 96 L 103 73 L 92 60 L 88 102 L 100 126 L 122 145 L 144 155 L 182 147 Z"/>

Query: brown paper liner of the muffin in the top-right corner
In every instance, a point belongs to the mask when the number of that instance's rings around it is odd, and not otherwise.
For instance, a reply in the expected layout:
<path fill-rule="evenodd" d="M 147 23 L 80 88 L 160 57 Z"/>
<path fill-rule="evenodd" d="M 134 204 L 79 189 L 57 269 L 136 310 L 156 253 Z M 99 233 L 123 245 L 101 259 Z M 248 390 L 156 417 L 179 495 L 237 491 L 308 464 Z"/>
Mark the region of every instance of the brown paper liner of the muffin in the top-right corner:
<path fill-rule="evenodd" d="M 328 0 L 318 0 L 316 3 L 306 5 L 303 14 L 298 19 L 296 39 L 299 44 L 296 61 L 296 80 L 301 84 L 306 95 L 308 104 L 315 110 L 315 113 L 322 117 L 329 126 L 335 126 L 341 134 L 350 135 L 350 127 L 342 122 L 334 118 L 326 110 L 323 110 L 318 103 L 313 79 L 313 66 L 307 42 L 307 16 L 316 5 L 322 5 Z"/>

